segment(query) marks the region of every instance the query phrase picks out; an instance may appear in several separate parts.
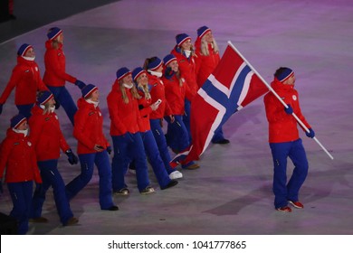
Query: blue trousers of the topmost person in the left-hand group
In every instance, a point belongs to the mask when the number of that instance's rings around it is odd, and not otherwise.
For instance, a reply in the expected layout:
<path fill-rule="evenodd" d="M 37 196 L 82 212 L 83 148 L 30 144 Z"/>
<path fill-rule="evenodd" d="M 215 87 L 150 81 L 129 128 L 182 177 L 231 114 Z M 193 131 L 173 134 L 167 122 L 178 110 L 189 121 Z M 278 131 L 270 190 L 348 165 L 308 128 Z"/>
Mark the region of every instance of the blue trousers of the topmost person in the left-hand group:
<path fill-rule="evenodd" d="M 55 100 L 59 101 L 73 126 L 73 116 L 77 111 L 77 107 L 72 99 L 72 95 L 70 95 L 69 91 L 64 86 L 53 87 L 48 85 L 48 89 L 52 91 L 52 95 L 54 96 Z"/>

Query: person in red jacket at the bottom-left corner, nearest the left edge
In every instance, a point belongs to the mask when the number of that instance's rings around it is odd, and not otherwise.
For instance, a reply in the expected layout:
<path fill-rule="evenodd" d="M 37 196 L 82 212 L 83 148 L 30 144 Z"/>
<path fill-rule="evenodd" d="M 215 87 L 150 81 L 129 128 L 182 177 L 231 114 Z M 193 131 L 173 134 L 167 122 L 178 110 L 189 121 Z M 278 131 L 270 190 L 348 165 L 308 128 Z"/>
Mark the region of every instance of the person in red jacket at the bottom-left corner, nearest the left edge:
<path fill-rule="evenodd" d="M 26 117 L 16 115 L 11 119 L 0 146 L 0 182 L 6 168 L 5 182 L 14 204 L 10 216 L 18 220 L 18 233 L 24 235 L 28 231 L 33 181 L 42 183 Z"/>

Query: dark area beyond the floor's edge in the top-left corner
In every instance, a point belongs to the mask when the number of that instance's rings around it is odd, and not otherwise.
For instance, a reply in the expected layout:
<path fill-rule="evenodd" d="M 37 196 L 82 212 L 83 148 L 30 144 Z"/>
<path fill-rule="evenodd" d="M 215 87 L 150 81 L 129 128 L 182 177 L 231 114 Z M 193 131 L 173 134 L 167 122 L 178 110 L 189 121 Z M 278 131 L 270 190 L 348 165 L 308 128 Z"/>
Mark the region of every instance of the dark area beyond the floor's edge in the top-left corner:
<path fill-rule="evenodd" d="M 22 33 L 119 0 L 14 0 L 16 19 L 4 21 L 7 0 L 0 0 L 0 43 Z"/>

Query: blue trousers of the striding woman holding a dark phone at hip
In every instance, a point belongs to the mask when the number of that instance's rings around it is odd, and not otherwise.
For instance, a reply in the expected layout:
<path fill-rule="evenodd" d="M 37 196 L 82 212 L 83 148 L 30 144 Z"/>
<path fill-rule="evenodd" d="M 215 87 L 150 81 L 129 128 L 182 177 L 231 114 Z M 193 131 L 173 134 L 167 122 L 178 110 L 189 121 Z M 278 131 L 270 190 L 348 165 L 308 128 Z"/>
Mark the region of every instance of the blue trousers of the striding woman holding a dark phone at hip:
<path fill-rule="evenodd" d="M 66 196 L 71 200 L 83 187 L 91 181 L 94 164 L 100 176 L 100 209 L 107 210 L 114 205 L 111 192 L 111 167 L 110 157 L 106 150 L 91 154 L 79 155 L 81 174 L 68 183 L 65 187 Z"/>

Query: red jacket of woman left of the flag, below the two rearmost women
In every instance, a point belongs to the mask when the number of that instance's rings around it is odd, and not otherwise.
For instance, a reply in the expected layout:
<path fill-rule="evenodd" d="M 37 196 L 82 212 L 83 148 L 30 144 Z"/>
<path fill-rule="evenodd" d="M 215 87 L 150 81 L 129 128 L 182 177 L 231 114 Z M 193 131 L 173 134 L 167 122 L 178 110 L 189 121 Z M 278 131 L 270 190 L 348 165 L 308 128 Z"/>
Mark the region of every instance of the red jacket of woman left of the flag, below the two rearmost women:
<path fill-rule="evenodd" d="M 163 77 L 163 83 L 165 84 L 166 98 L 170 106 L 171 114 L 173 115 L 184 115 L 185 113 L 185 98 L 191 101 L 193 94 L 187 86 L 186 80 L 181 78 L 183 85 L 180 86 L 179 80 L 176 78 L 176 74 L 171 76 L 169 79 Z"/>

